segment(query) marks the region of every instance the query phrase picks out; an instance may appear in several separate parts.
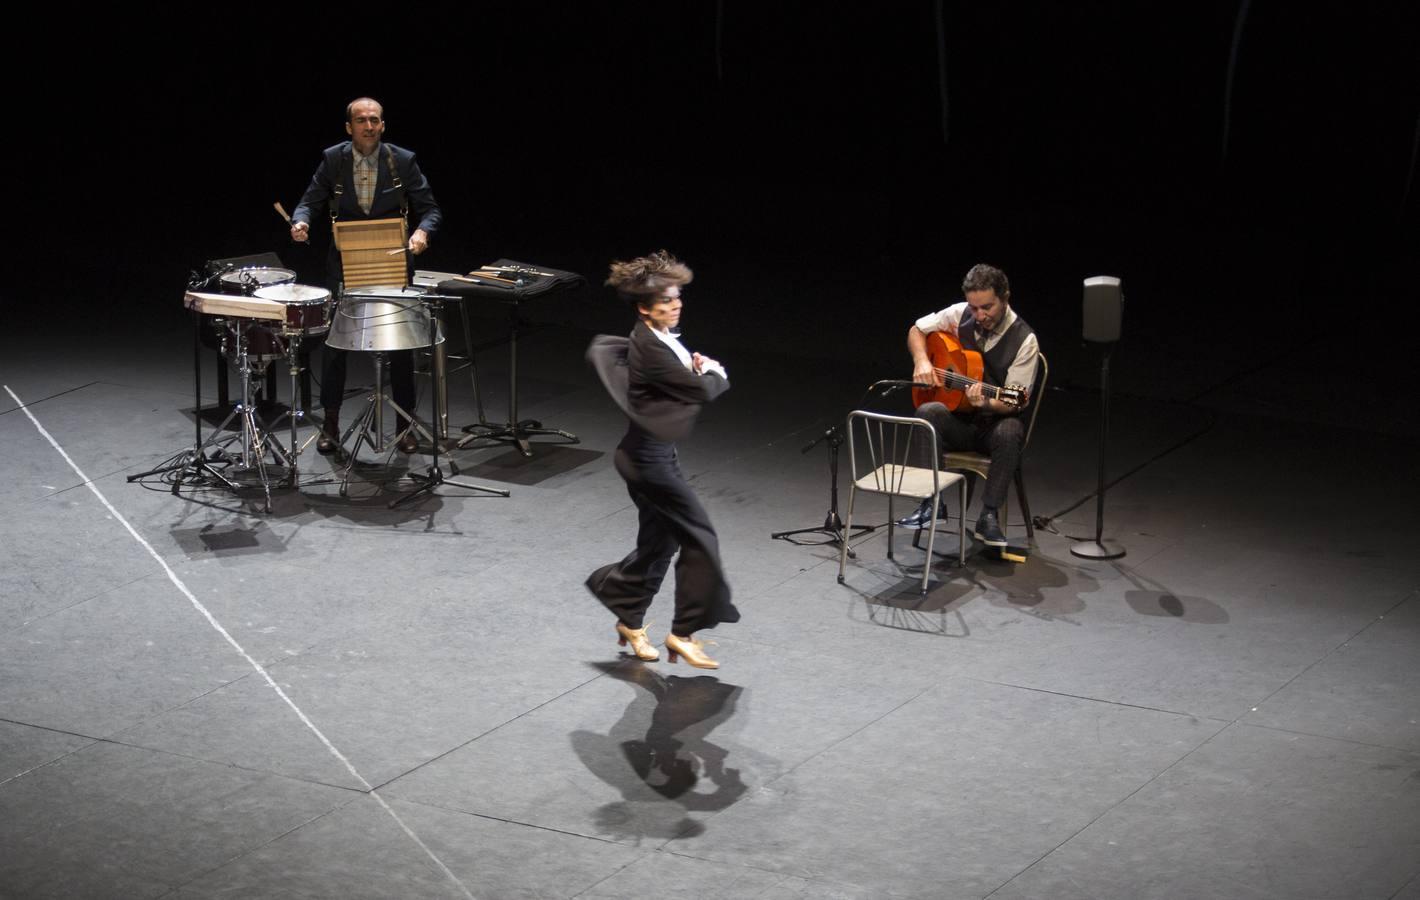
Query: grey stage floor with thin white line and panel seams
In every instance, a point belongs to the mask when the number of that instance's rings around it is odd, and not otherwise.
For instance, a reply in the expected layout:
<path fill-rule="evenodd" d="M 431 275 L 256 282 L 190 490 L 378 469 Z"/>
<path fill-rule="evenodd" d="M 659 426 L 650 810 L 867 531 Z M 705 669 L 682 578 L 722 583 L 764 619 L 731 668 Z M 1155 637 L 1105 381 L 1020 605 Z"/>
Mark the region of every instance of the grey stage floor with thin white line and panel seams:
<path fill-rule="evenodd" d="M 524 413 L 578 446 L 456 457 L 511 497 L 390 511 L 395 460 L 264 515 L 126 481 L 193 440 L 180 328 L 9 335 L 0 896 L 1420 899 L 1406 427 L 1306 415 L 1265 369 L 1261 402 L 1122 395 L 1127 555 L 1086 562 L 1098 399 L 1051 392 L 1052 529 L 922 598 L 902 532 L 845 585 L 768 539 L 822 521 L 802 444 L 902 373 L 727 358 L 683 447 L 744 613 L 710 674 L 618 656 L 581 586 L 635 529 L 585 341 L 523 345 Z M 497 419 L 503 349 L 480 363 Z"/>

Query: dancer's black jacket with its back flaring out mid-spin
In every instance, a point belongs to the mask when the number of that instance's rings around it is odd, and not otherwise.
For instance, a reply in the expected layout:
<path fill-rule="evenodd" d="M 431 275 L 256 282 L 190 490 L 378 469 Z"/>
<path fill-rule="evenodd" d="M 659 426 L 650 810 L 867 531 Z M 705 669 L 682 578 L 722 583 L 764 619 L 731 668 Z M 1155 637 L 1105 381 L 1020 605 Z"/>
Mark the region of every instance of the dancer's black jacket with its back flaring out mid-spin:
<path fill-rule="evenodd" d="M 674 443 L 690 433 L 704 403 L 730 389 L 714 372 L 696 375 L 645 322 L 630 338 L 596 335 L 586 348 L 608 393 L 639 429 L 655 440 Z"/>

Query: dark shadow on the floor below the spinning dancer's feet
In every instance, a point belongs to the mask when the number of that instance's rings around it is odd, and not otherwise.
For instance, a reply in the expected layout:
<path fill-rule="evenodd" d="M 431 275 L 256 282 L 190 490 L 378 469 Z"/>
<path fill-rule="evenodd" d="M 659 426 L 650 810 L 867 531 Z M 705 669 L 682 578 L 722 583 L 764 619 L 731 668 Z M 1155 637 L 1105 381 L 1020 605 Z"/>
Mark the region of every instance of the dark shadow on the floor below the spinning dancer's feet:
<path fill-rule="evenodd" d="M 596 811 L 604 833 L 677 838 L 704 826 L 686 812 L 716 812 L 746 792 L 740 769 L 707 735 L 728 720 L 744 688 L 713 676 L 662 676 L 640 663 L 595 669 L 635 687 L 636 696 L 609 734 L 574 731 L 572 750 L 586 768 L 621 791 Z"/>

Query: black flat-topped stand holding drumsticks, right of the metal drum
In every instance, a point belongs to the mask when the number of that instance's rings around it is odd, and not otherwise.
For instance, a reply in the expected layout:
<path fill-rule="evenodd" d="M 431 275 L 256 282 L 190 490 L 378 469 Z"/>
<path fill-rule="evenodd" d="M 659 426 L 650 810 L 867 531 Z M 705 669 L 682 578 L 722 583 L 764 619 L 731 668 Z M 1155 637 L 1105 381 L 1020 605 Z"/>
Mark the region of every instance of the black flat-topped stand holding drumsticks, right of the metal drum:
<path fill-rule="evenodd" d="M 479 440 L 506 441 L 517 444 L 523 456 L 532 456 L 530 439 L 535 436 L 561 437 L 562 443 L 579 444 L 582 439 L 571 432 L 544 427 L 537 419 L 518 419 L 518 331 L 521 319 L 518 309 L 521 304 L 578 288 L 586 282 L 577 273 L 518 263 L 517 260 L 498 260 L 484 267 L 497 270 L 497 278 L 470 277 L 439 282 L 440 294 L 452 294 L 466 300 L 491 300 L 508 308 L 508 420 L 503 424 L 483 419 L 479 410 L 479 422 L 466 424 L 464 437 L 459 440 L 459 447 L 467 447 Z"/>

